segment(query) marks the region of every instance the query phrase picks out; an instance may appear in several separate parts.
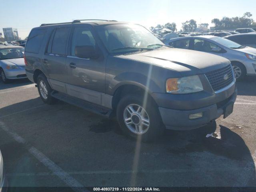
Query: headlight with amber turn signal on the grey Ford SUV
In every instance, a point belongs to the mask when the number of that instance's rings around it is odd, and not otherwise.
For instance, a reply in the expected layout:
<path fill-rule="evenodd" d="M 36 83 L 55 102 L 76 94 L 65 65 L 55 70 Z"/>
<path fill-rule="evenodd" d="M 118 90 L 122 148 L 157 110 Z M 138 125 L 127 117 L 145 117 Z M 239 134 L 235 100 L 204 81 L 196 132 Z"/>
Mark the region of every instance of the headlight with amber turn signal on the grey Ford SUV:
<path fill-rule="evenodd" d="M 204 90 L 198 75 L 170 78 L 166 81 L 166 92 L 174 94 L 195 93 Z"/>

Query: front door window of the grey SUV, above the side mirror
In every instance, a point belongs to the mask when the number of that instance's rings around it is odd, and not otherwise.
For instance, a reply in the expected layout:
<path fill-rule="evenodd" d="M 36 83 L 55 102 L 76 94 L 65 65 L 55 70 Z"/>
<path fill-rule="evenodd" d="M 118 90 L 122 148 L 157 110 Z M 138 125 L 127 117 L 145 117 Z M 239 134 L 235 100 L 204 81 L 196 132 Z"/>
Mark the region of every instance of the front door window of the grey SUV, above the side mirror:
<path fill-rule="evenodd" d="M 95 46 L 95 40 L 87 27 L 77 27 L 74 29 L 72 37 L 71 55 L 76 56 L 76 46 Z"/>

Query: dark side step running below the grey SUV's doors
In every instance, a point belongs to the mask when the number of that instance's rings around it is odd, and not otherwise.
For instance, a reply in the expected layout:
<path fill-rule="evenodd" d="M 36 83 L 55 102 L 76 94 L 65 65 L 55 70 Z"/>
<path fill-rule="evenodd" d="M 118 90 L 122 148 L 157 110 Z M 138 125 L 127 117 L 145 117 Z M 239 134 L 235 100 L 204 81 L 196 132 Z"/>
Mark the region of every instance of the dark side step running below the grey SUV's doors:
<path fill-rule="evenodd" d="M 111 118 L 110 115 L 112 114 L 112 110 L 104 106 L 100 106 L 98 104 L 94 104 L 56 91 L 53 91 L 51 96 L 58 100 L 62 100 L 66 103 L 83 108 L 84 110 L 105 116 L 106 118 Z"/>

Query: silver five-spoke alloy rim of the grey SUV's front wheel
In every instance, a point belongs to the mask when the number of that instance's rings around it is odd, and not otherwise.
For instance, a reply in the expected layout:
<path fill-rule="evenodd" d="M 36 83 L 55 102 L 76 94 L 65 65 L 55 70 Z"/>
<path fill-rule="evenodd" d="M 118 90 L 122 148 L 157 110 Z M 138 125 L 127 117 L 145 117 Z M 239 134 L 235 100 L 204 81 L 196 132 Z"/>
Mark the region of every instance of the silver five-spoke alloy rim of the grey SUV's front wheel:
<path fill-rule="evenodd" d="M 138 104 L 130 104 L 124 109 L 124 123 L 135 134 L 144 134 L 150 126 L 146 110 Z"/>

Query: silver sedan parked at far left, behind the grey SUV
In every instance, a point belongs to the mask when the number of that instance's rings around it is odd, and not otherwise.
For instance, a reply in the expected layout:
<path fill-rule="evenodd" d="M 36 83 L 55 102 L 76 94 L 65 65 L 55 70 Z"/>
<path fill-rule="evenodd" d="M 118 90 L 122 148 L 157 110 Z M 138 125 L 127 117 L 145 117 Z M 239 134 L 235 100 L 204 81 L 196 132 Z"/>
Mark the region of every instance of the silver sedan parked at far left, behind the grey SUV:
<path fill-rule="evenodd" d="M 2 82 L 7 83 L 10 79 L 26 78 L 24 47 L 0 46 L 0 74 Z"/>

